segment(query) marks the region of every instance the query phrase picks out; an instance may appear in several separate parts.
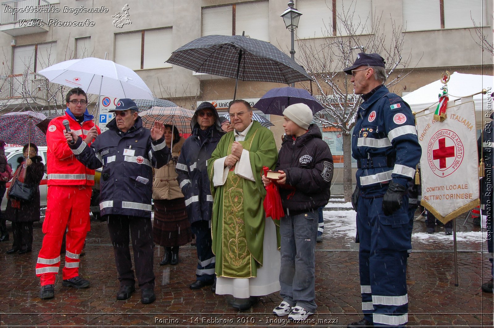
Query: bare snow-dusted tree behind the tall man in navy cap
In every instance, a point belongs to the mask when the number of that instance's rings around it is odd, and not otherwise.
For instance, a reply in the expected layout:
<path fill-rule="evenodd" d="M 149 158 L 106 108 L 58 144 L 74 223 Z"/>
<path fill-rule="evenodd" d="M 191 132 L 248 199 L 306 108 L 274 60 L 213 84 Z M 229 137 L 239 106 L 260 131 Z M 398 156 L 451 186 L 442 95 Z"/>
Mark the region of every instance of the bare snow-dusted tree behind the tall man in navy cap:
<path fill-rule="evenodd" d="M 315 115 L 323 127 L 333 127 L 341 131 L 343 137 L 343 188 L 345 201 L 352 194 L 351 131 L 355 126 L 361 97 L 353 93 L 350 75 L 343 69 L 353 64 L 359 52 L 379 53 L 386 61 L 388 88 L 396 85 L 408 73 L 397 71 L 407 67 L 411 54 L 403 54 L 404 33 L 392 17 L 381 21 L 374 14 L 370 24 L 365 20 L 354 20 L 353 10 L 336 15 L 338 28 L 326 26 L 326 37 L 321 39 L 298 40 L 299 62 L 313 78 L 324 110 Z M 409 72 L 410 73 L 410 72 Z M 312 88 L 311 84 L 311 88 Z"/>

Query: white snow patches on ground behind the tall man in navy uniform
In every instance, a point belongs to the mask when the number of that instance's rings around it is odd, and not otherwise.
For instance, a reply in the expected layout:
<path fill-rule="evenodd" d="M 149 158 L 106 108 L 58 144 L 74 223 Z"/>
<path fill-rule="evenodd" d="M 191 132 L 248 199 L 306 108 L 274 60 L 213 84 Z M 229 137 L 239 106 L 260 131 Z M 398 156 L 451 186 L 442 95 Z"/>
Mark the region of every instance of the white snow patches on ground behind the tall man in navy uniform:
<path fill-rule="evenodd" d="M 350 204 L 350 207 L 352 206 L 351 203 L 345 203 L 343 205 L 347 204 Z M 340 204 L 334 203 L 329 203 L 326 207 L 335 206 L 342 207 Z M 324 211 L 324 235 L 344 236 L 353 240 L 357 233 L 356 217 L 357 213 L 355 211 Z M 414 224 L 418 223 L 415 222 Z M 486 238 L 486 231 L 456 232 L 456 241 L 483 242 Z M 412 234 L 412 240 L 424 243 L 429 243 L 433 240 L 438 242 L 453 242 L 453 235 L 447 236 L 444 232 L 436 232 L 433 234 L 417 232 Z"/>

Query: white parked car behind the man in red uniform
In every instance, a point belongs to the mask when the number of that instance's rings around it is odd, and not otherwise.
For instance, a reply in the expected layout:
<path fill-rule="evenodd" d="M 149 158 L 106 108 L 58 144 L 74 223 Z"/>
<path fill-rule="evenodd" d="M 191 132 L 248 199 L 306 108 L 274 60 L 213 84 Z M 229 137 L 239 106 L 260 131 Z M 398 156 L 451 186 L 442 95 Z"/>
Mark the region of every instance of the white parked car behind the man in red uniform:
<path fill-rule="evenodd" d="M 41 156 L 41 161 L 44 164 L 44 174 L 43 178 L 41 179 L 40 182 L 40 205 L 41 205 L 41 213 L 44 215 L 44 210 L 46 209 L 46 191 L 47 191 L 47 175 L 46 175 L 46 151 L 47 147 L 46 146 L 39 146 L 38 147 L 38 155 Z M 7 157 L 7 162 L 8 164 L 12 167 L 12 170 L 15 171 L 17 168 L 17 159 L 19 157 L 22 157 L 22 147 L 7 147 L 5 148 L 5 156 Z M 99 172 L 98 172 L 99 171 Z M 99 178 L 101 176 L 101 169 L 98 169 L 98 171 L 94 175 L 94 186 L 93 186 L 93 193 L 91 196 L 91 208 L 90 211 L 92 212 L 92 215 L 94 219 L 100 219 L 99 215 Z M 10 186 L 10 182 L 7 182 L 7 188 Z M 5 208 L 7 207 L 7 197 L 6 195 L 3 196 L 3 199 L 1 201 L 1 212 L 5 212 Z"/>

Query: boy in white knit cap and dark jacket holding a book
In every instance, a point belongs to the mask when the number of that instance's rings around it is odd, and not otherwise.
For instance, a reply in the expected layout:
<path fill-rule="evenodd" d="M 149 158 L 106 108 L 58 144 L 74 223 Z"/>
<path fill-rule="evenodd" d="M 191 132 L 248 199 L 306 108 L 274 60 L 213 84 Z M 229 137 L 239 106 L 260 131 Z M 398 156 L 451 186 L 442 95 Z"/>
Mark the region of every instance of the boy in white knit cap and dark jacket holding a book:
<path fill-rule="evenodd" d="M 280 219 L 280 295 L 283 301 L 273 313 L 291 320 L 306 319 L 316 311 L 315 247 L 318 208 L 329 201 L 333 157 L 312 122 L 312 110 L 293 104 L 283 112 L 286 136 L 276 170 L 285 217 Z M 262 177 L 264 185 L 272 183 Z"/>

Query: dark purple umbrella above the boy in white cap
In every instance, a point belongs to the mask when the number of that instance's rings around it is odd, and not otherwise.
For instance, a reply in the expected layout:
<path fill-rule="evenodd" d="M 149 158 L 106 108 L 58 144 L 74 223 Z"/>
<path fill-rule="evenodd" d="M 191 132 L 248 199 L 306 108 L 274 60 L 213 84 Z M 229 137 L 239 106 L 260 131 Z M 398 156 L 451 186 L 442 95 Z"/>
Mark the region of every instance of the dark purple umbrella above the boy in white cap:
<path fill-rule="evenodd" d="M 283 115 L 285 108 L 299 103 L 309 106 L 312 113 L 324 109 L 323 105 L 309 91 L 291 86 L 269 90 L 253 107 L 265 114 Z"/>

